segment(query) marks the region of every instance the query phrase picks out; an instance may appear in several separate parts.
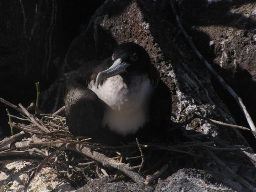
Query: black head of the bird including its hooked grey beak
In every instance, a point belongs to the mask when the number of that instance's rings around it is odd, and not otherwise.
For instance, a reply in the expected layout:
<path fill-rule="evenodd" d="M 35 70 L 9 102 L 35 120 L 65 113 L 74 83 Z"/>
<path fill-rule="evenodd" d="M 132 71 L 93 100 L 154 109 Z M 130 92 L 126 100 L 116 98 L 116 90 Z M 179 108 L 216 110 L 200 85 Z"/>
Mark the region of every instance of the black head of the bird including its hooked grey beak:
<path fill-rule="evenodd" d="M 96 86 L 106 78 L 130 73 L 144 73 L 150 68 L 150 56 L 146 50 L 135 43 L 123 43 L 116 47 L 112 54 L 112 65 L 102 72 L 99 72 L 96 78 Z"/>

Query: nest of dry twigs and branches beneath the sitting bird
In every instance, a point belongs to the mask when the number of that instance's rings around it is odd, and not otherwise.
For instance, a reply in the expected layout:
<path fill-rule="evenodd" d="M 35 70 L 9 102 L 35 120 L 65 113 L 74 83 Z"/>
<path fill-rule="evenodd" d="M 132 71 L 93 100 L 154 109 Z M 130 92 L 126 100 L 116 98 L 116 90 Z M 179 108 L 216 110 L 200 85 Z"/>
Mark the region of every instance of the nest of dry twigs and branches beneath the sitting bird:
<path fill-rule="evenodd" d="M 72 136 L 66 126 L 66 119 L 59 115 L 64 107 L 54 114 L 44 114 L 33 103 L 28 108 L 24 108 L 21 104 L 15 106 L 2 98 L 0 101 L 20 113 L 20 116 L 9 114 L 10 117 L 20 121 L 20 123 L 10 121 L 9 124 L 22 130 L 0 142 L 0 163 L 25 160 L 35 164 L 35 167 L 28 172 L 25 191 L 34 176 L 45 166 L 54 168 L 60 178 L 67 180 L 75 187 L 83 186 L 94 178 L 104 176 L 120 178 L 124 181 L 133 180 L 138 184 L 150 184 L 154 183 L 160 175 L 166 178 L 184 167 L 184 164 L 193 166 L 193 162 L 209 156 L 227 170 L 228 167 L 215 153 L 250 151 L 249 148 L 231 146 L 210 135 L 188 135 L 182 131 L 182 136 L 186 139 L 184 142 L 176 142 L 178 144 L 140 143 L 136 139 L 122 146 L 105 146 L 92 142 L 91 138 Z M 246 153 L 243 154 L 246 155 Z M 250 155 L 247 154 L 248 157 Z M 189 161 L 188 158 L 190 158 Z M 168 166 L 172 167 L 167 170 Z M 232 170 L 227 171 L 236 175 Z"/>

